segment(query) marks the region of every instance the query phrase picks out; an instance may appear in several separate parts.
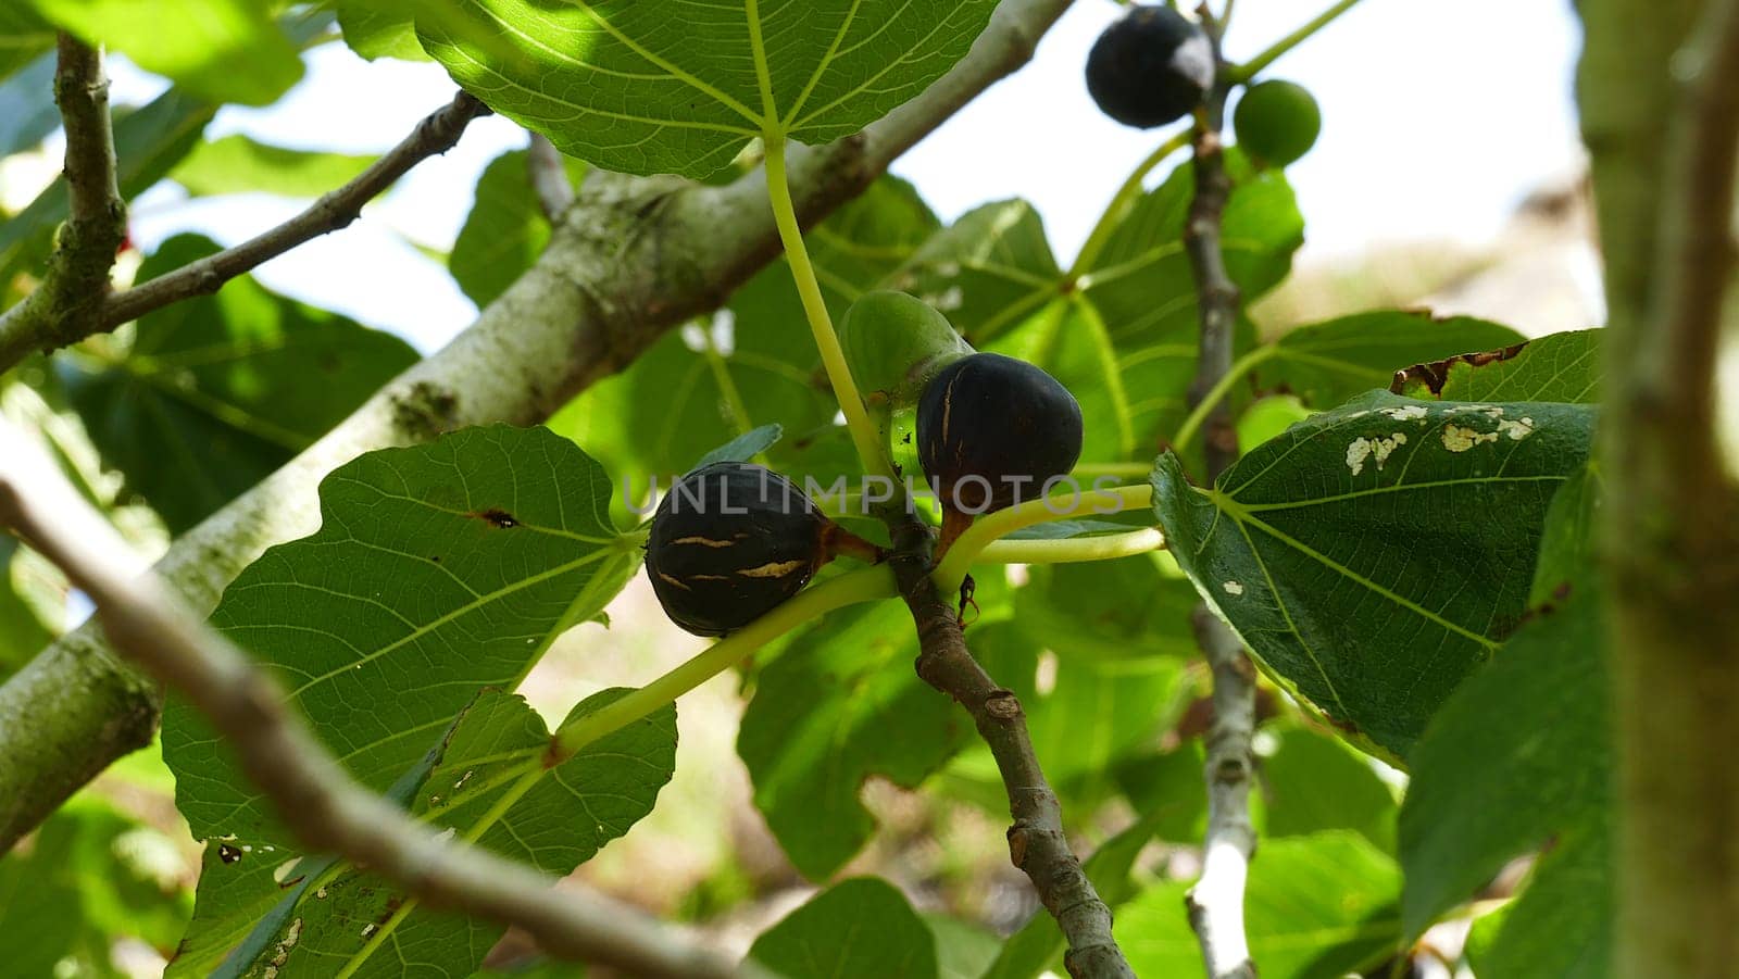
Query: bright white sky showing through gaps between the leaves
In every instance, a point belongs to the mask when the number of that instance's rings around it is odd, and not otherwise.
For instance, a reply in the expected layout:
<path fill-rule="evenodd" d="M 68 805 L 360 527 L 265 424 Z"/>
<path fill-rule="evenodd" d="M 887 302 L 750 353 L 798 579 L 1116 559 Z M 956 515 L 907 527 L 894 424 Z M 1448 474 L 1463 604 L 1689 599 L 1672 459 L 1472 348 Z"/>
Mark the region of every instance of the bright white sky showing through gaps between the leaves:
<path fill-rule="evenodd" d="M 1261 50 L 1322 5 L 1243 0 L 1228 54 Z M 1026 196 L 1066 264 L 1116 184 L 1169 134 L 1123 129 L 1087 97 L 1087 49 L 1116 16 L 1113 3 L 1080 0 L 1033 64 L 894 170 L 943 219 L 986 200 Z M 1271 75 L 1304 83 L 1323 104 L 1322 141 L 1289 170 L 1308 228 L 1303 259 L 1355 254 L 1374 242 L 1494 235 L 1523 195 L 1572 172 L 1581 158 L 1570 89 L 1577 45 L 1567 0 L 1367 0 L 1289 54 Z M 143 103 L 163 87 L 123 63 L 111 71 L 117 103 Z M 329 43 L 310 56 L 306 80 L 285 99 L 263 110 L 226 108 L 207 137 L 247 132 L 287 146 L 377 153 L 450 89 L 435 64 L 369 64 Z M 503 118 L 473 123 L 459 148 L 414 170 L 365 221 L 266 264 L 259 278 L 398 332 L 419 350 L 438 348 L 473 320 L 475 308 L 410 242 L 445 249 L 471 207 L 476 174 L 523 139 Z M 57 151 L 50 144 L 49 167 Z M 14 188 L 0 190 L 12 196 Z M 28 190 L 26 200 L 35 188 Z M 271 196 L 183 203 L 181 196 L 158 188 L 136 202 L 134 242 L 153 249 L 197 230 L 228 245 L 306 203 Z"/>

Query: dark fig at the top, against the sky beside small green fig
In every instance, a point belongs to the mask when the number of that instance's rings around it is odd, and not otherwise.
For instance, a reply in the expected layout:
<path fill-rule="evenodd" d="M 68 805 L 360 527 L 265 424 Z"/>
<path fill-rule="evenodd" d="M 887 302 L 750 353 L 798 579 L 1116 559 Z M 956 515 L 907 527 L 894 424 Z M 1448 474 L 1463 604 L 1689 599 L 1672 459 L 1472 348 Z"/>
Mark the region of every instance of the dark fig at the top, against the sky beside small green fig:
<path fill-rule="evenodd" d="M 1214 45 L 1170 7 L 1130 7 L 1087 54 L 1087 92 L 1123 125 L 1189 115 L 1214 87 Z"/>

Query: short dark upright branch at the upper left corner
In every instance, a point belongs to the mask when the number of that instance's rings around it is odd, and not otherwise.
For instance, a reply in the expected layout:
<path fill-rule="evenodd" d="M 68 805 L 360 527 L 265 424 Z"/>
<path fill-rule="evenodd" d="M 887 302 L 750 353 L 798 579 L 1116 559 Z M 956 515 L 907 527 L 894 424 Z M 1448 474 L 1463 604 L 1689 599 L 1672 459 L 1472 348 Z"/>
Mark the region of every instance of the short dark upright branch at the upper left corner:
<path fill-rule="evenodd" d="M 127 203 L 115 179 L 103 56 L 61 33 L 54 101 L 66 127 L 68 221 L 42 285 L 0 315 L 0 374 L 33 350 L 64 346 L 99 327 L 115 252 L 127 240 Z"/>

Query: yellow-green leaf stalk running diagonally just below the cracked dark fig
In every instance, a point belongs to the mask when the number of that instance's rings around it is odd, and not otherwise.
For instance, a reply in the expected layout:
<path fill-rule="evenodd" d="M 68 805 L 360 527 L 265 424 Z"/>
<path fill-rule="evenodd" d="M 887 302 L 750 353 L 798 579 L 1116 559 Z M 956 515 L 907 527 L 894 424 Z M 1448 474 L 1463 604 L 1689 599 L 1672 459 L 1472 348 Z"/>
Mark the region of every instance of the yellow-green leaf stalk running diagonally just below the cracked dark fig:
<path fill-rule="evenodd" d="M 612 701 L 595 713 L 574 718 L 572 723 L 562 725 L 555 732 L 550 763 L 572 758 L 581 748 L 647 716 L 725 669 L 730 669 L 760 647 L 796 626 L 819 619 L 835 609 L 875 598 L 892 598 L 894 595 L 894 572 L 887 565 L 866 567 L 807 588 L 790 602 L 715 642 L 645 687 Z"/>

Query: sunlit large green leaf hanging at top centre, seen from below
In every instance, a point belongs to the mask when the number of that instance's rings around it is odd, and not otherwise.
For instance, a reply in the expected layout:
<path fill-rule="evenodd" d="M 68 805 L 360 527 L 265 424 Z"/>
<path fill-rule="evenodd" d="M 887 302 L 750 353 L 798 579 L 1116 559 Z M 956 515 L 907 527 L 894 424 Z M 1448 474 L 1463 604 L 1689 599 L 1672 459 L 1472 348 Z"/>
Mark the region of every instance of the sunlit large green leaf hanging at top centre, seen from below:
<path fill-rule="evenodd" d="M 756 136 L 823 144 L 965 57 L 995 0 L 443 0 L 417 35 L 464 89 L 610 170 L 696 179 Z"/>

